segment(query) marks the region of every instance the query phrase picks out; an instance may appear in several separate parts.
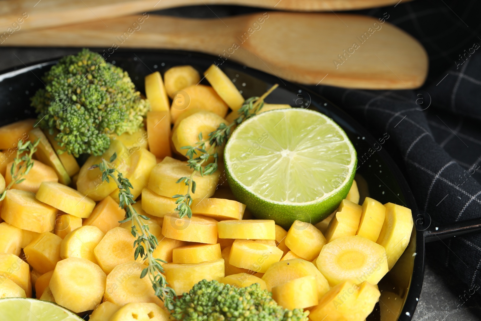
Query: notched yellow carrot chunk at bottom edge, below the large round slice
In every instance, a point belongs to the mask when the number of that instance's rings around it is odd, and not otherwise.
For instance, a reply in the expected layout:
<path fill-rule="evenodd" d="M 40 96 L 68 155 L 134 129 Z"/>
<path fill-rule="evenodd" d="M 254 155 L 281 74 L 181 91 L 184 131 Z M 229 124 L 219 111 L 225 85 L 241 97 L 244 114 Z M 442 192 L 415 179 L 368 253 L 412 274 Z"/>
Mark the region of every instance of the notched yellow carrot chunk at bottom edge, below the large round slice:
<path fill-rule="evenodd" d="M 309 319 L 312 321 L 365 320 L 374 309 L 380 292 L 368 282 L 361 287 L 349 281 L 334 286 L 319 299 L 319 304 L 311 309 Z"/>

